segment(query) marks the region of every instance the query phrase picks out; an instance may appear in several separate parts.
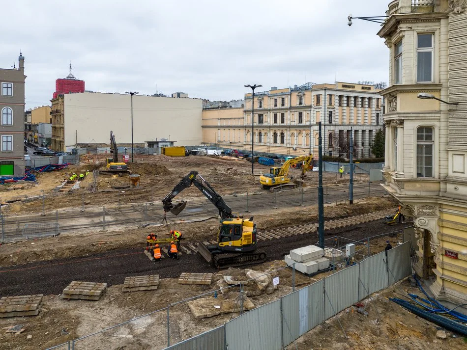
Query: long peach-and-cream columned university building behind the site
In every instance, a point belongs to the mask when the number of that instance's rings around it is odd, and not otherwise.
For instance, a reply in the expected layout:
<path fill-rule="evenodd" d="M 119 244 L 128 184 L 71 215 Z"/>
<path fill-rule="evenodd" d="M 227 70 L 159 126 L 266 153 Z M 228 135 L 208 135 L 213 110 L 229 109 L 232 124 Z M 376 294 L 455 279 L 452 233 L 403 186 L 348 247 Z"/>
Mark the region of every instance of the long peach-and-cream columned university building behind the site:
<path fill-rule="evenodd" d="M 318 154 L 321 121 L 325 155 L 348 158 L 352 129 L 355 156 L 371 157 L 371 142 L 382 127 L 381 101 L 374 86 L 346 82 L 255 91 L 254 150 Z M 244 108 L 204 109 L 203 141 L 251 150 L 251 109 L 251 93 Z"/>

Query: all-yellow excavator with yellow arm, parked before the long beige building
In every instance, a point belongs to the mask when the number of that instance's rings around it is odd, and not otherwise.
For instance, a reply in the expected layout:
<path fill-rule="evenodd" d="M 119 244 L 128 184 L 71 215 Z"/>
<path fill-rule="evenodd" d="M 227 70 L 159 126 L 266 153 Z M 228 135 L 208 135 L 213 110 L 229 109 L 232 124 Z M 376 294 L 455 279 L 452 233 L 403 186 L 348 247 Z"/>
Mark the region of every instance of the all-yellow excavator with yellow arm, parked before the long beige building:
<path fill-rule="evenodd" d="M 277 191 L 287 188 L 296 188 L 303 183 L 308 170 L 313 169 L 313 155 L 298 156 L 286 161 L 281 167 L 273 166 L 269 169 L 269 174 L 260 176 L 260 184 L 264 189 Z M 299 167 L 302 170 L 300 180 L 292 182 L 292 176 L 289 176 L 291 168 Z"/>

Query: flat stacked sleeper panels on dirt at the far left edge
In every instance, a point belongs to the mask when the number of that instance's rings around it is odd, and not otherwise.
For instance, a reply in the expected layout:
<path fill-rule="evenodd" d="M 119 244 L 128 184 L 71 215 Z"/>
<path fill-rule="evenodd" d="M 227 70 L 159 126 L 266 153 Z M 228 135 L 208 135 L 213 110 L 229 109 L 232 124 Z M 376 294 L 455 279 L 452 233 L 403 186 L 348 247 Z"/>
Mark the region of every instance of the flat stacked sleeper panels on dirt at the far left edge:
<path fill-rule="evenodd" d="M 42 294 L 31 296 L 3 296 L 0 299 L 0 318 L 35 316 L 42 307 Z"/>

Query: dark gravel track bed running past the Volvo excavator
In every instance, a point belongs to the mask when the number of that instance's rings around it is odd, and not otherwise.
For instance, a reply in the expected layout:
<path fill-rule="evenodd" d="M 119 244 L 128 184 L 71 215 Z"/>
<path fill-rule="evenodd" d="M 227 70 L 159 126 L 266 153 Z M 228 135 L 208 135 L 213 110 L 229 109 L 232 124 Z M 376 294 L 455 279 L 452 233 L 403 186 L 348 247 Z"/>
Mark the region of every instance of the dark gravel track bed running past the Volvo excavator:
<path fill-rule="evenodd" d="M 352 240 L 362 240 L 401 229 L 400 224 L 388 226 L 383 220 L 377 220 L 345 229 L 326 230 L 325 238 L 339 235 Z M 386 238 L 380 240 L 385 241 Z M 273 261 L 283 259 L 291 249 L 315 244 L 317 241 L 316 235 L 298 235 L 259 244 L 266 251 L 268 261 Z M 211 267 L 200 254 L 183 254 L 179 260 L 163 259 L 158 263 L 152 263 L 142 253 L 142 248 L 122 249 L 79 258 L 57 259 L 1 269 L 0 295 L 60 294 L 71 281 L 102 282 L 111 286 L 123 284 L 127 276 L 159 274 L 160 278 L 175 278 L 181 272 L 215 271 L 216 269 Z"/>

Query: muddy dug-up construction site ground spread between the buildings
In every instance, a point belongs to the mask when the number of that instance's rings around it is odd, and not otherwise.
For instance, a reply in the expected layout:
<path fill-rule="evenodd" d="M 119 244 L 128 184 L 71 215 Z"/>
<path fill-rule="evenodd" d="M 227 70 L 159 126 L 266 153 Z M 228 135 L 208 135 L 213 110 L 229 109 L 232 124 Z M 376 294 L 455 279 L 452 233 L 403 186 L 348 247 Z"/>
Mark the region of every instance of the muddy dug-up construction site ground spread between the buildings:
<path fill-rule="evenodd" d="M 359 173 L 350 204 L 349 174 L 325 172 L 327 248 L 313 265 L 287 263 L 294 250 L 319 245 L 319 174 L 306 162 L 290 162 L 284 176 L 284 162 L 276 170 L 254 163 L 252 173 L 251 162 L 226 156 L 134 155 L 117 167 L 105 155 L 83 155 L 79 164 L 35 173 L 35 182 L 2 185 L 0 350 L 203 349 L 176 344 L 208 331 L 224 338 L 206 349 L 248 349 L 226 345 L 229 332 L 218 327 L 385 252 L 387 268 L 388 242 L 396 261 L 413 240 L 412 223 L 394 216 L 385 224 L 398 203 Z M 273 182 L 264 186 L 263 178 Z M 278 181 L 296 186 L 277 188 Z M 321 257 L 322 268 L 314 264 Z M 389 283 L 387 275 L 349 307 L 329 302 L 333 312 L 326 318 L 324 308 L 314 327 L 295 334 L 281 323 L 279 348 L 263 340 L 251 349 L 465 349 L 458 332 L 389 299 L 421 295 L 417 281 L 406 274 Z"/>

